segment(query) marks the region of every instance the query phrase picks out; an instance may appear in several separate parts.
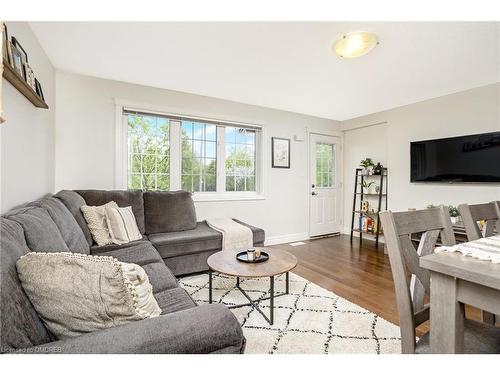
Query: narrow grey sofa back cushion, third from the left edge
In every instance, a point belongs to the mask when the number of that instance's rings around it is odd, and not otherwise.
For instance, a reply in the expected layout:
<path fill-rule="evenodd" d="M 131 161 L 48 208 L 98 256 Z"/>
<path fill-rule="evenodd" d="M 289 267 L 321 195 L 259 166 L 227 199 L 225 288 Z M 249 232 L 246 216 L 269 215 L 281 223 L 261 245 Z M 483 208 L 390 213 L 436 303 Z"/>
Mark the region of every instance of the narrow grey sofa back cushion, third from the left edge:
<path fill-rule="evenodd" d="M 35 204 L 47 210 L 72 253 L 90 254 L 90 246 L 82 228 L 59 199 L 54 197 L 43 198 L 36 201 Z"/>

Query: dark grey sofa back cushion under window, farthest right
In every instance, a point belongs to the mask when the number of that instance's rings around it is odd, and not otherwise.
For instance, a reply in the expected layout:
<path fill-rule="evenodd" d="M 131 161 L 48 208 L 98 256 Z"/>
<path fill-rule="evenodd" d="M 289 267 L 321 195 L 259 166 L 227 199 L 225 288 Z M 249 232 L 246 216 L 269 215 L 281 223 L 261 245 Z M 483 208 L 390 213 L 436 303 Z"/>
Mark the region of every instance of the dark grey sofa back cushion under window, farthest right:
<path fill-rule="evenodd" d="M 144 212 L 147 234 L 196 228 L 196 210 L 187 191 L 146 191 Z"/>

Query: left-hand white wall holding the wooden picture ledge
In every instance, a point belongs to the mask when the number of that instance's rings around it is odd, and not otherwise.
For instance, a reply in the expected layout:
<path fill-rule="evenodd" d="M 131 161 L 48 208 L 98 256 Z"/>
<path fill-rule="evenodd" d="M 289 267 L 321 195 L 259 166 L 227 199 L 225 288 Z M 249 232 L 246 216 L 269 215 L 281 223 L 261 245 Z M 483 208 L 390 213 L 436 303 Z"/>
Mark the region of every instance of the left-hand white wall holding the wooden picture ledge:
<path fill-rule="evenodd" d="M 49 109 L 35 108 L 7 80 L 3 83 L 6 121 L 0 125 L 2 213 L 54 190 L 55 71 L 26 22 L 6 22 L 28 53 Z"/>

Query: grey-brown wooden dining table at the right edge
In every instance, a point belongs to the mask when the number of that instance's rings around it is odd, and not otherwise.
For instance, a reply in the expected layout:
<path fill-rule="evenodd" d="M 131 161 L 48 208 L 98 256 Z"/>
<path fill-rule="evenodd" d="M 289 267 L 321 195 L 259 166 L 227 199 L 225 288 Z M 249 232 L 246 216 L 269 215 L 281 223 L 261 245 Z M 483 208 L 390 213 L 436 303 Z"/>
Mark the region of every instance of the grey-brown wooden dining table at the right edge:
<path fill-rule="evenodd" d="M 464 305 L 500 315 L 500 263 L 439 252 L 421 257 L 420 266 L 431 273 L 431 352 L 463 353 Z"/>

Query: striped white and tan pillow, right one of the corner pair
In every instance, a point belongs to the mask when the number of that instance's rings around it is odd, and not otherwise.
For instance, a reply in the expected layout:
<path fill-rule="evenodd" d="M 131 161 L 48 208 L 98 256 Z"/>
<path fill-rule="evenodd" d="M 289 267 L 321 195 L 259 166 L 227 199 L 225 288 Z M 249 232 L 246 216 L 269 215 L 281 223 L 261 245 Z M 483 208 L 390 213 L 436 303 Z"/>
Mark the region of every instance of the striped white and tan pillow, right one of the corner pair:
<path fill-rule="evenodd" d="M 118 245 L 140 240 L 141 232 L 137 227 L 132 207 L 106 207 L 106 219 L 111 241 Z"/>

